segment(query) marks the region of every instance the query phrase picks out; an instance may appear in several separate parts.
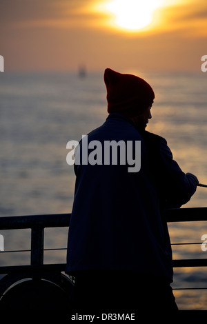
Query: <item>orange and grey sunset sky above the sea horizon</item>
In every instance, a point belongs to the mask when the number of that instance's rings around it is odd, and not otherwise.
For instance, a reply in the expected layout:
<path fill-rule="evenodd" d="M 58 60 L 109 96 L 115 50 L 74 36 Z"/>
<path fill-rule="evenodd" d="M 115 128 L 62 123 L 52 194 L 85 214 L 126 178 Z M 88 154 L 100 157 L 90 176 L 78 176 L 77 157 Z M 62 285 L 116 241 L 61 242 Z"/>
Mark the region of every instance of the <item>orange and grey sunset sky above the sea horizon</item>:
<path fill-rule="evenodd" d="M 146 26 L 129 28 L 145 15 Z M 199 72 L 206 40 L 206 0 L 0 0 L 8 72 L 82 64 L 91 71 Z"/>

